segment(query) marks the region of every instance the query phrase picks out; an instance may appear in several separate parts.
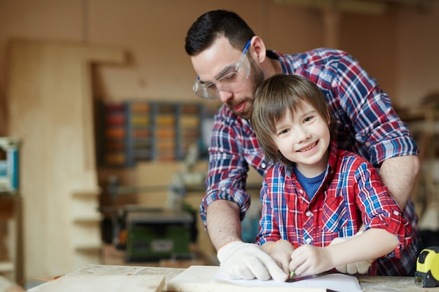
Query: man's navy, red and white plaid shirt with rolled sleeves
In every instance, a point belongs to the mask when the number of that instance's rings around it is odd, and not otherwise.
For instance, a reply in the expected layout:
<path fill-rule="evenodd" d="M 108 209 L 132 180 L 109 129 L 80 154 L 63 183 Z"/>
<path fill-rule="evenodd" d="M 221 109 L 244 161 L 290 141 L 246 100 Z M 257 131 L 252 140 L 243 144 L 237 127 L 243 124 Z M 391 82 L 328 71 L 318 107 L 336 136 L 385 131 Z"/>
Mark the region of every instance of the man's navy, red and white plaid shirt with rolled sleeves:
<path fill-rule="evenodd" d="M 323 91 L 335 120 L 339 148 L 357 153 L 374 167 L 388 158 L 418 154 L 407 125 L 396 115 L 389 97 L 347 53 L 320 48 L 295 55 L 269 50 L 267 56 L 281 62 L 284 74 L 309 78 Z M 249 165 L 262 176 L 270 167 L 249 121 L 223 105 L 215 116 L 209 147 L 207 190 L 200 209 L 204 223 L 208 204 L 219 199 L 236 202 L 244 217 L 250 206 L 245 190 Z M 403 216 L 412 225 L 412 244 L 401 251 L 401 259 L 395 263 L 387 260 L 379 265 L 379 274 L 405 275 L 416 263 L 420 243 L 411 200 Z"/>

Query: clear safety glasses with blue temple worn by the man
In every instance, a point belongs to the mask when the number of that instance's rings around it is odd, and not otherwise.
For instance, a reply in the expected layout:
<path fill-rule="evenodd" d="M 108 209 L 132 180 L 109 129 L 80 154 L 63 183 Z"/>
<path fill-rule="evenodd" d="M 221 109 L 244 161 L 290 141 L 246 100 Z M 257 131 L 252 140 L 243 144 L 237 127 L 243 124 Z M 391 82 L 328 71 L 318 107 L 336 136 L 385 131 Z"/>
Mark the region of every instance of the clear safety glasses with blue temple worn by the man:
<path fill-rule="evenodd" d="M 213 100 L 219 97 L 220 90 L 232 92 L 243 87 L 250 75 L 250 62 L 247 57 L 247 51 L 251 41 L 250 39 L 245 45 L 238 62 L 224 68 L 214 81 L 203 82 L 200 81 L 200 77 L 198 76 L 192 88 L 195 94 L 198 95 L 198 97 Z"/>

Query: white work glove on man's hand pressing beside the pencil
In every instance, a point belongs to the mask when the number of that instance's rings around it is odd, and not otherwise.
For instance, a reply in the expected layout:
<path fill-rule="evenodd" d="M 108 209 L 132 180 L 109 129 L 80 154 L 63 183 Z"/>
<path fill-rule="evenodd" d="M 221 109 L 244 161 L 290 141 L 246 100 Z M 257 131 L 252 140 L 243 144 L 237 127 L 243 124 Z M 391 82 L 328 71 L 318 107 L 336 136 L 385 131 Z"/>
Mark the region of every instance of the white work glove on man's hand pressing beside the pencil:
<path fill-rule="evenodd" d="M 229 242 L 218 251 L 222 275 L 227 279 L 259 279 L 266 281 L 286 281 L 281 267 L 257 244 L 245 242 Z"/>

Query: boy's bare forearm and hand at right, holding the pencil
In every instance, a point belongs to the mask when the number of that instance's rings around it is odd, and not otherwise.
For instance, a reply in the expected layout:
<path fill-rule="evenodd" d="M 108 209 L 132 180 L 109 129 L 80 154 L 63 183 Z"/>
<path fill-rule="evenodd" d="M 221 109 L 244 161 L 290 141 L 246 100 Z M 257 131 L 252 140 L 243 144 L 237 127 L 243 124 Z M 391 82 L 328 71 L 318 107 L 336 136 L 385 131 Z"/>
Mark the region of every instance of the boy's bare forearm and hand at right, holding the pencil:
<path fill-rule="evenodd" d="M 299 246 L 291 254 L 290 270 L 303 276 L 319 274 L 339 265 L 379 258 L 391 253 L 398 244 L 396 235 L 384 229 L 371 228 L 339 244 Z"/>

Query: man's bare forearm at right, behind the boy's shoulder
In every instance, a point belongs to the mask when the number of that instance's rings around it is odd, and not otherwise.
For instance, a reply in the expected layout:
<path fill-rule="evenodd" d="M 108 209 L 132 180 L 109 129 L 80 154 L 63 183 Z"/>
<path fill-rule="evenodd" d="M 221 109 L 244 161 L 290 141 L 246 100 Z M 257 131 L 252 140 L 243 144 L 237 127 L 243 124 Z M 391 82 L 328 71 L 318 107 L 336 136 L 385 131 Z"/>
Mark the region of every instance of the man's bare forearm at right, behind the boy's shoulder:
<path fill-rule="evenodd" d="M 385 160 L 379 169 L 381 182 L 389 188 L 401 210 L 410 198 L 419 167 L 419 158 L 407 155 Z"/>

